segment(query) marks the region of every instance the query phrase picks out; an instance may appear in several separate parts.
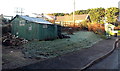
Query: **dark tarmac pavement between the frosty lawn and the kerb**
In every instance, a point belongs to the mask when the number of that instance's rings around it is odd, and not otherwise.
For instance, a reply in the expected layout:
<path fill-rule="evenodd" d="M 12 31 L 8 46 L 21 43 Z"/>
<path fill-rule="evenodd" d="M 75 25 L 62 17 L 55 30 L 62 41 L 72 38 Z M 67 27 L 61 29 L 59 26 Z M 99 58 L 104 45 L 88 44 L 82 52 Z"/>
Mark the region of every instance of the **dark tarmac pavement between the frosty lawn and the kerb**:
<path fill-rule="evenodd" d="M 104 56 L 113 49 L 116 38 L 101 40 L 91 48 L 67 53 L 17 69 L 81 69 L 91 61 Z"/>

